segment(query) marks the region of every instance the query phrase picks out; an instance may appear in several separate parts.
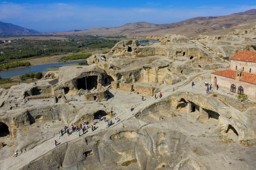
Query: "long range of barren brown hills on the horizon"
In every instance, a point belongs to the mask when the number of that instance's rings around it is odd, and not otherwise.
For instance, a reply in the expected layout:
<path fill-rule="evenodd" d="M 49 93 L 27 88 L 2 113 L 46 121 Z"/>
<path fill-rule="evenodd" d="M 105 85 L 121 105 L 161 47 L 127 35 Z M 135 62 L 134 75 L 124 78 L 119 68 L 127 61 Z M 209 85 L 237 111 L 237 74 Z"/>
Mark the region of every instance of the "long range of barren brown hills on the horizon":
<path fill-rule="evenodd" d="M 195 17 L 170 24 L 136 22 L 120 27 L 101 27 L 77 32 L 55 32 L 56 35 L 127 36 L 156 39 L 167 34 L 187 37 L 198 35 L 224 35 L 234 29 L 251 29 L 256 23 L 256 9 L 226 16 Z"/>

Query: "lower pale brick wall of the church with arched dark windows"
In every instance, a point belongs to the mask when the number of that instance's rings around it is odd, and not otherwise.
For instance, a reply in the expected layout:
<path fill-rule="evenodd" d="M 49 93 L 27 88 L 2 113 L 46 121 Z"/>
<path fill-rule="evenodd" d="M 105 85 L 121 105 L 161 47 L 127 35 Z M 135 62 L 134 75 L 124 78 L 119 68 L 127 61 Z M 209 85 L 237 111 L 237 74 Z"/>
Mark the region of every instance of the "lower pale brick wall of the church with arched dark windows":
<path fill-rule="evenodd" d="M 223 76 L 219 76 L 216 74 L 211 75 L 211 84 L 214 85 L 214 77 L 217 78 L 217 84 L 219 85 L 219 88 L 225 88 L 230 90 L 231 85 L 234 84 L 236 86 L 236 94 L 238 93 L 238 87 L 242 86 L 244 89 L 244 94 L 246 94 L 248 97 L 256 99 L 256 84 L 247 83 L 239 80 L 235 80 L 232 78 L 227 78 Z M 232 92 L 230 92 L 232 93 Z"/>

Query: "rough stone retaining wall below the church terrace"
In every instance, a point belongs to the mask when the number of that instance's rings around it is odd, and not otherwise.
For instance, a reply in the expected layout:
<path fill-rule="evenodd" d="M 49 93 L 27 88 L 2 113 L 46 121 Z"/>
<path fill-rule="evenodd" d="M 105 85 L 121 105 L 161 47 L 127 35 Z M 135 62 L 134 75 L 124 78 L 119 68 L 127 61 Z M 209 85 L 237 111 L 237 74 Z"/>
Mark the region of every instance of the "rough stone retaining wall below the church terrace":
<path fill-rule="evenodd" d="M 250 107 L 255 107 L 256 106 L 256 103 L 255 102 L 248 102 L 248 101 L 244 101 L 244 102 L 241 102 L 240 100 L 238 99 L 234 99 L 232 97 L 228 97 L 226 95 L 222 95 L 222 94 L 219 94 L 219 93 L 215 93 L 215 92 L 209 92 L 206 94 L 206 96 L 208 95 L 213 95 L 213 94 L 216 94 L 217 97 L 225 104 L 227 105 L 230 105 L 232 106 L 233 108 L 241 111 L 241 112 L 244 112 L 246 111 L 248 108 Z"/>

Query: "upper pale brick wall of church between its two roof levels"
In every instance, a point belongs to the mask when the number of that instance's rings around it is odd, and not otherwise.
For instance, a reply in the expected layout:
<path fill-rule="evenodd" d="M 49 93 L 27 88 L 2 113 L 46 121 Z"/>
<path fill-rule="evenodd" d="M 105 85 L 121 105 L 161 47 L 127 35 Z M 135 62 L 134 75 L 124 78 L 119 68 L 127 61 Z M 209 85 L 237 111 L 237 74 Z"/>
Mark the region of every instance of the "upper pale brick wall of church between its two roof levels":
<path fill-rule="evenodd" d="M 244 67 L 244 72 L 246 73 L 250 73 L 250 69 L 251 69 L 251 74 L 256 74 L 256 62 L 230 60 L 230 69 L 236 70 L 236 66 L 237 66 L 237 69 L 239 69 L 240 66 L 242 69 Z"/>

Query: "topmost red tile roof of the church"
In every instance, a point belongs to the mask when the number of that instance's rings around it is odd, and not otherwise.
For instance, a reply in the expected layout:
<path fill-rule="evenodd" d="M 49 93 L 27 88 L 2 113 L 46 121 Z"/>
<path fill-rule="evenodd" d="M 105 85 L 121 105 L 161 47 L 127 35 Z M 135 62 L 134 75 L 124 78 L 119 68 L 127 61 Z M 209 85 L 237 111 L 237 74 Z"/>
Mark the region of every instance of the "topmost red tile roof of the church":
<path fill-rule="evenodd" d="M 256 52 L 253 51 L 238 51 L 231 60 L 256 62 Z"/>

